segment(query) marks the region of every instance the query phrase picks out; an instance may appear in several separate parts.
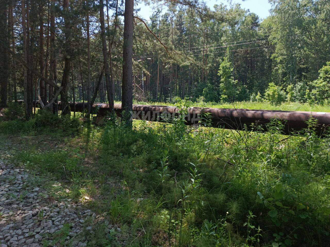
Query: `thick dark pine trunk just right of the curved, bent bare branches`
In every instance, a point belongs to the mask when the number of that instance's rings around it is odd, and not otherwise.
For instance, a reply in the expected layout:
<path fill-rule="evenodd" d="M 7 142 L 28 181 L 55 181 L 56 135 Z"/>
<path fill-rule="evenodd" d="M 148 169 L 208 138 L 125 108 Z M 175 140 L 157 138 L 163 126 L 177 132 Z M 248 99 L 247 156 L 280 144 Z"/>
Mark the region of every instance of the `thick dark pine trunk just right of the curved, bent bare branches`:
<path fill-rule="evenodd" d="M 62 116 L 70 114 L 70 104 L 68 102 L 68 83 L 70 74 L 70 63 L 71 63 L 71 47 L 70 47 L 70 20 L 69 20 L 69 0 L 63 0 L 63 19 L 64 19 L 64 37 L 65 37 L 65 52 L 64 52 L 64 69 L 61 86 L 61 105 L 62 105 Z"/>

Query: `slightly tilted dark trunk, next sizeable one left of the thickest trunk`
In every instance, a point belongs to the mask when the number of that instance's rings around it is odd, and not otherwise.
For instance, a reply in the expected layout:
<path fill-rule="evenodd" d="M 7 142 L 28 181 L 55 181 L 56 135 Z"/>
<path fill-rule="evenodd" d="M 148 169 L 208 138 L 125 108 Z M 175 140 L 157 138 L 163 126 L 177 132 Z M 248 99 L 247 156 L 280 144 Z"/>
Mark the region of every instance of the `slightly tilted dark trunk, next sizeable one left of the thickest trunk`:
<path fill-rule="evenodd" d="M 110 70 L 109 70 L 109 64 L 108 64 L 107 41 L 106 41 L 106 35 L 105 35 L 103 0 L 100 0 L 100 23 L 101 23 L 104 73 L 105 73 L 105 80 L 106 80 L 106 85 L 107 85 L 109 109 L 110 109 L 110 111 L 112 111 L 114 109 L 114 91 L 112 90 L 112 86 L 110 85 Z"/>

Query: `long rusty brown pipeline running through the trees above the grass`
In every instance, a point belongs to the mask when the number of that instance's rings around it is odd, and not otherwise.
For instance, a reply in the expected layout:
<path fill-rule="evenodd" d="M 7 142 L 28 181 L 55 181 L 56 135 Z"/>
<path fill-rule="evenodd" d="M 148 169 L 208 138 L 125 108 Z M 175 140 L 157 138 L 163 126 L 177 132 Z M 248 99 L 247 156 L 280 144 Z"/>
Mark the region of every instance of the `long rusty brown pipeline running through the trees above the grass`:
<path fill-rule="evenodd" d="M 33 103 L 34 105 L 38 105 L 39 101 Z M 70 108 L 71 111 L 75 108 L 77 112 L 82 112 L 87 108 L 87 103 L 77 102 L 74 105 L 70 102 Z M 58 109 L 61 110 L 61 102 L 58 102 Z M 166 122 L 178 116 L 180 110 L 181 109 L 174 106 L 133 105 L 132 118 Z M 121 104 L 115 104 L 114 111 L 117 116 L 121 116 Z M 93 112 L 95 112 L 99 118 L 106 117 L 110 114 L 109 104 L 93 104 Z M 306 129 L 308 127 L 306 121 L 311 117 L 317 120 L 315 131 L 319 135 L 323 134 L 324 131 L 330 127 L 329 112 L 190 107 L 187 109 L 185 120 L 187 125 L 204 125 L 203 123 L 207 123 L 206 126 L 216 128 L 267 131 L 267 124 L 272 119 L 278 119 L 284 125 L 282 129 L 283 134 L 291 134 Z"/>

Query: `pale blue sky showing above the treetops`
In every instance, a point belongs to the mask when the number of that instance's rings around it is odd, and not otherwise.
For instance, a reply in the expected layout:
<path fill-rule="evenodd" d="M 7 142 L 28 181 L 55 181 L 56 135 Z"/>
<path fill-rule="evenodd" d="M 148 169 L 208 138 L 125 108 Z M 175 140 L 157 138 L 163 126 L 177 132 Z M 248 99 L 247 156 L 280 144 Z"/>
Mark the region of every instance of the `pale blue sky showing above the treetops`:
<path fill-rule="evenodd" d="M 259 15 L 259 17 L 261 18 L 266 18 L 269 15 L 269 10 L 271 8 L 271 5 L 268 3 L 268 0 L 246 0 L 244 2 L 242 0 L 233 0 L 232 2 L 241 4 L 242 8 L 249 9 L 251 12 L 254 12 L 255 14 Z M 207 0 L 206 3 L 209 7 L 211 7 L 211 9 L 213 9 L 213 6 L 215 4 L 227 4 L 228 2 L 226 0 Z M 152 13 L 153 6 L 156 5 L 138 5 L 138 7 L 141 8 L 139 15 L 148 20 L 150 14 Z"/>

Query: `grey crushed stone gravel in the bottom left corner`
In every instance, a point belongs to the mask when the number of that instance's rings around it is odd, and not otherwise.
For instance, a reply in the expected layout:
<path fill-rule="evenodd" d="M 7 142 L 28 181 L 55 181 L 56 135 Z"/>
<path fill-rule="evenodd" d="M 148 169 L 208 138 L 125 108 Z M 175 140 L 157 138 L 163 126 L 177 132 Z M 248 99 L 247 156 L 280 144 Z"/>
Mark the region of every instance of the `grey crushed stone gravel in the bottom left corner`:
<path fill-rule="evenodd" d="M 50 201 L 34 176 L 0 160 L 0 247 L 87 246 L 82 233 L 92 227 L 84 223 L 96 214 L 70 199 Z"/>

